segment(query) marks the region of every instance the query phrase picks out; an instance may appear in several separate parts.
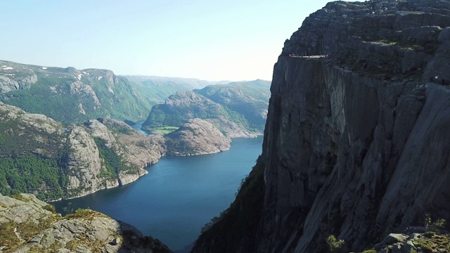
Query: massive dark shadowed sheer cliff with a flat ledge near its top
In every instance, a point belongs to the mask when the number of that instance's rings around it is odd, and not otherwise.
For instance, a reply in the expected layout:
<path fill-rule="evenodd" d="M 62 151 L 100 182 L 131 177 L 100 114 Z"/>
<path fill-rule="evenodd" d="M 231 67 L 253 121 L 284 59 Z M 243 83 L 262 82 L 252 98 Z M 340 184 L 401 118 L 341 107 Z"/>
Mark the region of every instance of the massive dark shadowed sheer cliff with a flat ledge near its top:
<path fill-rule="evenodd" d="M 361 252 L 449 220 L 449 27 L 449 1 L 335 1 L 304 20 L 257 166 L 193 252 L 328 252 L 330 235 Z"/>

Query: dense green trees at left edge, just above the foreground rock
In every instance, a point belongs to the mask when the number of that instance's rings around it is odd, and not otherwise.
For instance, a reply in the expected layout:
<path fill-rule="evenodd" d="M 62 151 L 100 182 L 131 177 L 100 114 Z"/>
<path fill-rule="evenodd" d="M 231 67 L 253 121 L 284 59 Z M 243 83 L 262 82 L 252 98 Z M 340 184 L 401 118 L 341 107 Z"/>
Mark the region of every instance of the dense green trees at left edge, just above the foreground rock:
<path fill-rule="evenodd" d="M 63 197 L 60 185 L 61 169 L 57 161 L 21 155 L 0 158 L 0 193 L 15 195 L 35 193 L 41 200 L 56 200 Z M 18 195 L 15 195 L 18 196 Z"/>

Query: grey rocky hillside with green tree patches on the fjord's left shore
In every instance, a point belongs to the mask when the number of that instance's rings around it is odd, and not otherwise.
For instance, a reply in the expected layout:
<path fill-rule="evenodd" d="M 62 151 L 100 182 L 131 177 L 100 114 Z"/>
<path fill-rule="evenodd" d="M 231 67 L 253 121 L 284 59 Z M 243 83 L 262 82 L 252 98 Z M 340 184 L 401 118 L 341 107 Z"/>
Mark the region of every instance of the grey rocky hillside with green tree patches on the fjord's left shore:
<path fill-rule="evenodd" d="M 41 200 L 130 183 L 162 155 L 158 141 L 123 122 L 64 127 L 1 102 L 0 147 L 0 193 L 34 193 Z"/>

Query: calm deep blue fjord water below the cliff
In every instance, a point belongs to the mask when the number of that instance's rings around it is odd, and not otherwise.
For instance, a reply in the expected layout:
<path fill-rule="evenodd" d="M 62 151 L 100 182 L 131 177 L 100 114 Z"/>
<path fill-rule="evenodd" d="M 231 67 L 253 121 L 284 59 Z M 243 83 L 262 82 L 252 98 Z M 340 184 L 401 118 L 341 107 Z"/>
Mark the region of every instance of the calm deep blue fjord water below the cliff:
<path fill-rule="evenodd" d="M 229 207 L 261 146 L 262 136 L 236 138 L 226 152 L 163 157 L 127 186 L 53 204 L 58 212 L 68 206 L 103 212 L 178 250 L 193 243 L 200 228 Z"/>

